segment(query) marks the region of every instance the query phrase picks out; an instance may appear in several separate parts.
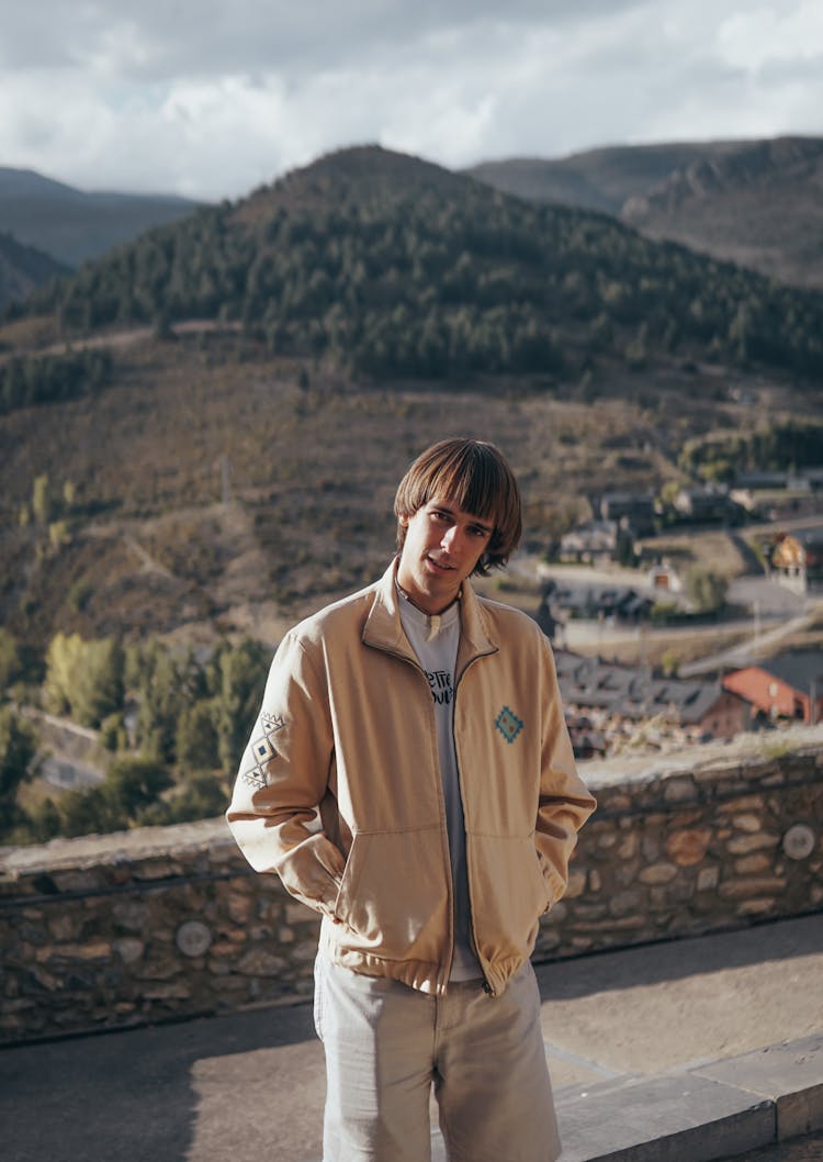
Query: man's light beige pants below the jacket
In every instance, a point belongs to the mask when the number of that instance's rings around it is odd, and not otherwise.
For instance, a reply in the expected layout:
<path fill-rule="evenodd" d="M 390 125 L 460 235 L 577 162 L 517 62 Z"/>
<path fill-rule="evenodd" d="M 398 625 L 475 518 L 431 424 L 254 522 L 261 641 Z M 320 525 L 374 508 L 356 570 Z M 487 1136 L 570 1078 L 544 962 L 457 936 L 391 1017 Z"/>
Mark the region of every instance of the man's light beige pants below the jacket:
<path fill-rule="evenodd" d="M 555 1162 L 560 1139 L 529 963 L 500 997 L 429 997 L 318 956 L 323 1162 L 429 1162 L 431 1088 L 449 1162 Z"/>

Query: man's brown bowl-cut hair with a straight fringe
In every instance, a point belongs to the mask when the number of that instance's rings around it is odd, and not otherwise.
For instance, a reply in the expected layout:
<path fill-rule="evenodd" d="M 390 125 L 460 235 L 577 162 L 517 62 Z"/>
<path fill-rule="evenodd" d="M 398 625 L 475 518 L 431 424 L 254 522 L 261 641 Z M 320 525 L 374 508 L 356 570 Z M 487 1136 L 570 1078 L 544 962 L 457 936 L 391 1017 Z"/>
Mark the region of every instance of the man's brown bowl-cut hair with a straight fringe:
<path fill-rule="evenodd" d="M 395 496 L 398 552 L 406 539 L 399 518 L 414 516 L 436 496 L 493 522 L 475 573 L 485 576 L 490 568 L 503 567 L 520 543 L 522 511 L 518 482 L 499 449 L 483 440 L 453 438 L 441 439 L 418 456 Z"/>

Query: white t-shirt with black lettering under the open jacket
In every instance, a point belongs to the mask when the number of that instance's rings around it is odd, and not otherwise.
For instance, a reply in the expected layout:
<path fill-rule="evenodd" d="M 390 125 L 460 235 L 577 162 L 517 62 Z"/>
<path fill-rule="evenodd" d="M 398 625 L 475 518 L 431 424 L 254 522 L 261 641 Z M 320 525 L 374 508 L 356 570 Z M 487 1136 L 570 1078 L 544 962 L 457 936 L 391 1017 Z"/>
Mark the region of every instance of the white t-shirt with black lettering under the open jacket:
<path fill-rule="evenodd" d="M 472 981 L 483 975 L 471 941 L 469 882 L 465 870 L 465 823 L 460 796 L 460 774 L 454 746 L 454 690 L 460 644 L 460 602 L 429 616 L 413 605 L 398 587 L 400 622 L 423 667 L 434 702 L 438 724 L 440 776 L 446 799 L 446 827 L 454 895 L 454 959 L 450 981 Z"/>

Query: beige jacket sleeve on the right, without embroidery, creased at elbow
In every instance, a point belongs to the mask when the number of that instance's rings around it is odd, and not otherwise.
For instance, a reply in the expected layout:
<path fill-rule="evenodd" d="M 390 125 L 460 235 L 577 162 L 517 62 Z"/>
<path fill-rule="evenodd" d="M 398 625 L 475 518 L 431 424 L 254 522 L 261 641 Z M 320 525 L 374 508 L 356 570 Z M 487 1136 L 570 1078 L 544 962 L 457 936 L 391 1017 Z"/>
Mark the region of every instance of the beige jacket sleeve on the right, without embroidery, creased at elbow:
<path fill-rule="evenodd" d="M 577 845 L 577 833 L 594 811 L 597 802 L 577 774 L 555 660 L 544 638 L 542 647 L 543 737 L 534 841 L 551 905 L 563 896 L 569 885 L 569 860 Z"/>

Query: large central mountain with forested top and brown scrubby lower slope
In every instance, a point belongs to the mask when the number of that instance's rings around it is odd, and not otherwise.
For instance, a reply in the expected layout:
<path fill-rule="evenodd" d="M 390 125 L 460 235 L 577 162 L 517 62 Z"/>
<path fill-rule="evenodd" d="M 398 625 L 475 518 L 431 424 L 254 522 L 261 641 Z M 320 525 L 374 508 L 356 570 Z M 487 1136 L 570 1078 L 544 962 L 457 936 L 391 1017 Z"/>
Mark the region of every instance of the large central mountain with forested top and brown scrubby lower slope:
<path fill-rule="evenodd" d="M 511 457 L 542 553 L 690 439 L 818 415 L 822 311 L 604 214 L 320 158 L 0 324 L 0 624 L 274 644 L 381 572 L 446 435 Z"/>

